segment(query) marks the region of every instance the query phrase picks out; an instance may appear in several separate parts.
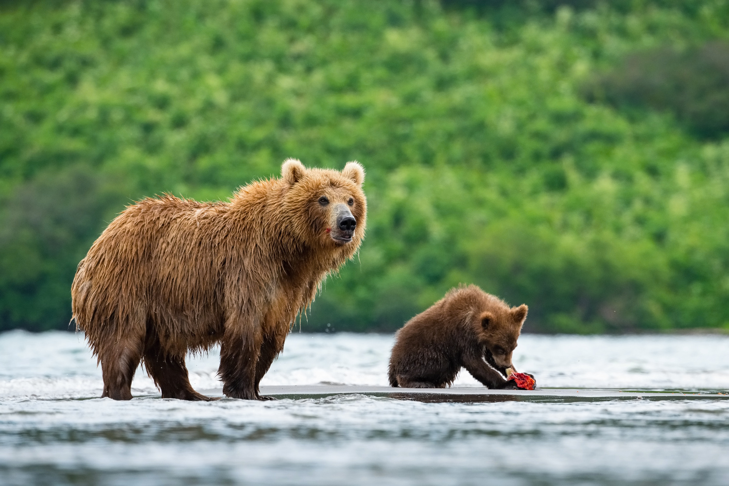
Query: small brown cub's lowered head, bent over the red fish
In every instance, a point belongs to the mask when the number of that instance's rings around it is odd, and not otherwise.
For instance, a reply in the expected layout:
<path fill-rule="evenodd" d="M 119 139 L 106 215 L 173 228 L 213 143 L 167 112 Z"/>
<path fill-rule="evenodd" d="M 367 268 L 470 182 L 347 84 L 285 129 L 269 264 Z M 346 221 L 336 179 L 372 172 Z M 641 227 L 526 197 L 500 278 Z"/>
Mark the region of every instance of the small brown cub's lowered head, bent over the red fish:
<path fill-rule="evenodd" d="M 494 302 L 478 315 L 476 324 L 478 337 L 486 348 L 484 357 L 488 364 L 506 375 L 506 369 L 512 368 L 512 353 L 516 348 L 516 340 L 521 334 L 521 326 L 526 320 L 526 304 L 509 307 L 504 302 Z"/>

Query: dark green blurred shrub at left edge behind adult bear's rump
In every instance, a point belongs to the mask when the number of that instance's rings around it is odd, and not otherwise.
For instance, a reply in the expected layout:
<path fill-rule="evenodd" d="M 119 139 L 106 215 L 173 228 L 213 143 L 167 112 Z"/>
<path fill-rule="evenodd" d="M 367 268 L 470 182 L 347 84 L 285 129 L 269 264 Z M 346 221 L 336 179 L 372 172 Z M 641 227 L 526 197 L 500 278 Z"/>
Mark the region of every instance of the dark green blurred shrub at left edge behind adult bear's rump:
<path fill-rule="evenodd" d="M 124 202 L 119 181 L 77 165 L 15 187 L 0 210 L 0 331 L 69 323 L 76 266 Z"/>

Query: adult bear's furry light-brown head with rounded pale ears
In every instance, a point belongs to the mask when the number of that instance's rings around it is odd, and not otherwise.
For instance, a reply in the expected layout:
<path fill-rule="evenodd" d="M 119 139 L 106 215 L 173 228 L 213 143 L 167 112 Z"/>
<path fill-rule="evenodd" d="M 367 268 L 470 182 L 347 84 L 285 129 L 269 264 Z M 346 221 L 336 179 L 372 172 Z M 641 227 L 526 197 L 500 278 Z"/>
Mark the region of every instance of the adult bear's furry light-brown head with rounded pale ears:
<path fill-rule="evenodd" d="M 281 165 L 281 181 L 292 231 L 311 246 L 354 254 L 367 220 L 362 165 L 347 162 L 339 172 L 305 168 L 299 160 L 288 159 Z"/>

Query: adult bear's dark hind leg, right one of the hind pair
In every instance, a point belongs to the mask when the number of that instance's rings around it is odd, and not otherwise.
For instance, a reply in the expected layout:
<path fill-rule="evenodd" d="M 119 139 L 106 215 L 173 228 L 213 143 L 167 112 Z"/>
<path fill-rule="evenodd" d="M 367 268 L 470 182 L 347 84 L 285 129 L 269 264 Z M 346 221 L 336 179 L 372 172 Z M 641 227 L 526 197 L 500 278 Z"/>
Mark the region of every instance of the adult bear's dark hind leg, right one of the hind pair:
<path fill-rule="evenodd" d="M 152 336 L 144 350 L 144 367 L 147 374 L 155 380 L 163 399 L 179 399 L 190 401 L 211 401 L 208 396 L 198 393 L 190 385 L 184 356 L 165 353 L 160 341 Z"/>

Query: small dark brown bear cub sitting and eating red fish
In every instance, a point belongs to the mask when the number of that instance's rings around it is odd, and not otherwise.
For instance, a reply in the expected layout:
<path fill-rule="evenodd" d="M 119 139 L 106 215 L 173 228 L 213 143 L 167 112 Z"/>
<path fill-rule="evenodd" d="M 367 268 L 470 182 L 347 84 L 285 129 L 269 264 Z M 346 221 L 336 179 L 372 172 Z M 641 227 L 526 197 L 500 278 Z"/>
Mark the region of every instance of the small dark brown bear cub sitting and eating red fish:
<path fill-rule="evenodd" d="M 451 289 L 395 334 L 390 385 L 445 388 L 464 367 L 488 388 L 516 388 L 504 375 L 514 369 L 511 356 L 526 311 L 475 285 Z"/>

